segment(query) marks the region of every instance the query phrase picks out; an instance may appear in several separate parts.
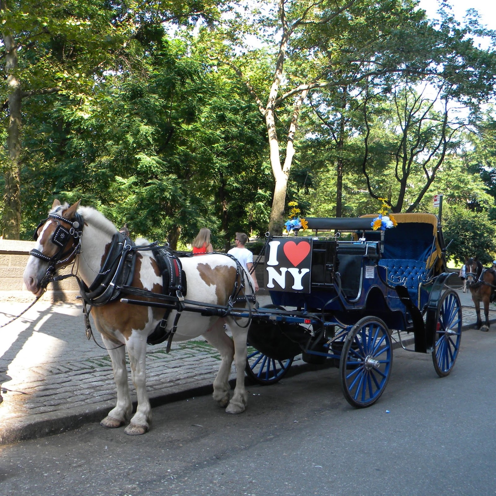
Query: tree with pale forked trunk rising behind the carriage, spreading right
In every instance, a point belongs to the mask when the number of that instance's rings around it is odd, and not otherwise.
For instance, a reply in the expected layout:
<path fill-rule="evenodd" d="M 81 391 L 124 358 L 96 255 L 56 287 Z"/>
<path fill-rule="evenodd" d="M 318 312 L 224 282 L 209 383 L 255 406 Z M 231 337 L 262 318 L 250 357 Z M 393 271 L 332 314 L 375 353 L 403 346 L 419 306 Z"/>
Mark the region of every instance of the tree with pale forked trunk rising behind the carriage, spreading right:
<path fill-rule="evenodd" d="M 214 44 L 216 60 L 245 81 L 265 120 L 275 179 L 272 232 L 282 228 L 297 124 L 311 93 L 347 88 L 356 94 L 362 81 L 375 93 L 385 94 L 388 88 L 391 93 L 399 76 L 412 84 L 449 81 L 442 86 L 443 95 L 467 105 L 491 93 L 494 54 L 475 48 L 468 39 L 470 33 L 482 33 L 479 27 L 472 22 L 460 28 L 449 16 L 436 27 L 416 7 L 415 1 L 396 0 L 341 5 L 278 0 L 261 6 L 253 23 L 237 18 L 232 30 L 217 31 L 224 36 Z M 252 35 L 260 27 L 265 45 L 256 50 L 243 46 L 240 31 Z M 402 198 L 398 200 L 401 208 Z"/>

